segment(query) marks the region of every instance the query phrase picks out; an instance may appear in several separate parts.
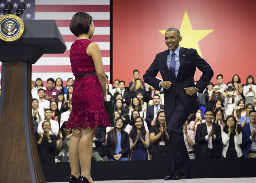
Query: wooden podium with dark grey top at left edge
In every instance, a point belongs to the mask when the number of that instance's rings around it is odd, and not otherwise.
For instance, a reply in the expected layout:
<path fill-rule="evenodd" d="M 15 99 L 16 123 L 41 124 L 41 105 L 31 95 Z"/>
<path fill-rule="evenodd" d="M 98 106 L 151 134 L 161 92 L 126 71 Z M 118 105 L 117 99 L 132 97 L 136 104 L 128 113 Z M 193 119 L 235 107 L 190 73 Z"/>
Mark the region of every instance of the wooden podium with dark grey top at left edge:
<path fill-rule="evenodd" d="M 0 40 L 0 182 L 45 182 L 33 129 L 31 70 L 44 53 L 64 53 L 54 20 L 24 20 L 16 42 Z M 50 77 L 50 76 L 49 76 Z"/>

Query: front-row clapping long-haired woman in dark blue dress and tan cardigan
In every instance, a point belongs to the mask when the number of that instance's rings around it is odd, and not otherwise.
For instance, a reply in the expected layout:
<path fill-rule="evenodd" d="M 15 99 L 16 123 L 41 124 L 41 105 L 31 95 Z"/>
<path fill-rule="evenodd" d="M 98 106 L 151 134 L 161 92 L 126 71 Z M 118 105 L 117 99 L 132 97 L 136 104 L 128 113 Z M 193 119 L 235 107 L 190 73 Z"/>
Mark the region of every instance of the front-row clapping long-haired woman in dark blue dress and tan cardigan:
<path fill-rule="evenodd" d="M 145 129 L 142 117 L 135 117 L 129 140 L 132 150 L 130 160 L 149 160 L 149 131 Z"/>

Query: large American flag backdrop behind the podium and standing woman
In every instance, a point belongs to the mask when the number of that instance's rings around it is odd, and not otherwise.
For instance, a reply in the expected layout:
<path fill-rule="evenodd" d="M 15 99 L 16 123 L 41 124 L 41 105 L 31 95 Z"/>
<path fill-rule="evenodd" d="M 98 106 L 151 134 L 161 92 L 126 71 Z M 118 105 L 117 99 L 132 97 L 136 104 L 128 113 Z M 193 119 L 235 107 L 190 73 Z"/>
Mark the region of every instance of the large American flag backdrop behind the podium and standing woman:
<path fill-rule="evenodd" d="M 16 13 L 21 2 L 26 4 L 24 14 L 20 16 L 23 20 L 54 19 L 67 46 L 65 53 L 44 54 L 32 66 L 33 81 L 41 78 L 44 86 L 47 86 L 48 78 L 61 78 L 63 86 L 66 86 L 68 78 L 75 79 L 70 67 L 69 50 L 77 37 L 69 30 L 69 24 L 72 16 L 79 11 L 93 17 L 95 32 L 91 40 L 100 47 L 105 72 L 110 80 L 110 0 L 0 0 L 0 17 L 7 2 L 14 5 L 12 14 Z"/>

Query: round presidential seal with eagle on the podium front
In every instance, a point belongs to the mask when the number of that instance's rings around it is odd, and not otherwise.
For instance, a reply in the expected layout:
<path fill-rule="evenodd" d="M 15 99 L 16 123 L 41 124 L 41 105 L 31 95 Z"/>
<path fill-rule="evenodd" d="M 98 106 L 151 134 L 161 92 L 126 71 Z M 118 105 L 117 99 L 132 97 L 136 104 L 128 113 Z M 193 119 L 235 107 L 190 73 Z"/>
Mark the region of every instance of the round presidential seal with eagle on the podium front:
<path fill-rule="evenodd" d="M 19 40 L 24 33 L 23 20 L 12 14 L 0 17 L 0 39 L 7 42 Z"/>

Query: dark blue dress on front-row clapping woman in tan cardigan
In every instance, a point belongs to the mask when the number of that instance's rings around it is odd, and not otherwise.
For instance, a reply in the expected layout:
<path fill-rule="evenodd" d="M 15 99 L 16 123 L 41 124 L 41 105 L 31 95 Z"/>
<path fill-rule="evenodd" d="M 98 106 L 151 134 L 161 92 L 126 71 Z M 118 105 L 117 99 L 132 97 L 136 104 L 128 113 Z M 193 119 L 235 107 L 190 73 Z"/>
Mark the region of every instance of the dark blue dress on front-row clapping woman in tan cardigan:
<path fill-rule="evenodd" d="M 138 133 L 137 133 L 138 134 Z M 145 134 L 141 135 L 142 139 L 145 141 Z M 133 138 L 133 143 L 136 141 L 136 137 Z M 143 143 L 139 139 L 135 148 L 133 148 L 133 154 L 131 160 L 147 160 L 147 150 L 144 148 Z"/>

